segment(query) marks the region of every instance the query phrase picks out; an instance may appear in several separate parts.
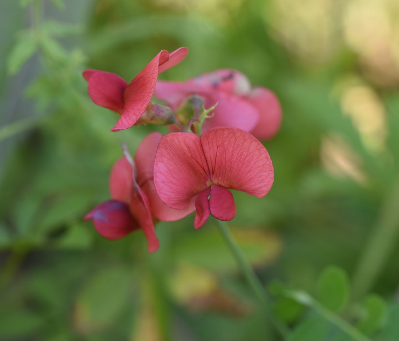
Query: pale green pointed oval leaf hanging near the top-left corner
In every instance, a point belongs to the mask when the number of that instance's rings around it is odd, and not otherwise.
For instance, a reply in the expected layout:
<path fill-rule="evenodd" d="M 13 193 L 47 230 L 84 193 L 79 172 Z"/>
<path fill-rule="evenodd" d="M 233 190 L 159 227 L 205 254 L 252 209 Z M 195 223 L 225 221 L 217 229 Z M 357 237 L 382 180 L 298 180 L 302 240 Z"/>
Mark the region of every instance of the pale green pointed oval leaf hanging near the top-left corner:
<path fill-rule="evenodd" d="M 11 49 L 7 58 L 7 71 L 14 75 L 36 51 L 36 39 L 32 31 L 25 32 Z"/>

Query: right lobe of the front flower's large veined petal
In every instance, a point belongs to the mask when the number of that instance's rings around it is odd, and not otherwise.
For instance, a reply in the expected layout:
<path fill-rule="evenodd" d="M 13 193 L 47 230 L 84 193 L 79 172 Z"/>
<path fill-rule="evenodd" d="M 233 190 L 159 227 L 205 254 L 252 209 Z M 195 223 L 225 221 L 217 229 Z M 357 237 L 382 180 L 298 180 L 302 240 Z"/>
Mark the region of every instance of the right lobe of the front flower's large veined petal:
<path fill-rule="evenodd" d="M 257 197 L 271 189 L 273 164 L 266 148 L 251 134 L 237 128 L 214 128 L 200 139 L 212 183 Z"/>

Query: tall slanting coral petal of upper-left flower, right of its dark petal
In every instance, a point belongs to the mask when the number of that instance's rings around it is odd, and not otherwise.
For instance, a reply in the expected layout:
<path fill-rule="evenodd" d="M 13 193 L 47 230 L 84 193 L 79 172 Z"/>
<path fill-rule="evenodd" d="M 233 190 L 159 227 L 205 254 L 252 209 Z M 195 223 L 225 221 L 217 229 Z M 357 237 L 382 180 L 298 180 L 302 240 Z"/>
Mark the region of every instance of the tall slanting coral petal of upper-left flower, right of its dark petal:
<path fill-rule="evenodd" d="M 124 91 L 123 112 L 112 131 L 128 129 L 140 118 L 154 93 L 159 64 L 165 63 L 168 57 L 168 51 L 160 51 L 127 85 Z"/>

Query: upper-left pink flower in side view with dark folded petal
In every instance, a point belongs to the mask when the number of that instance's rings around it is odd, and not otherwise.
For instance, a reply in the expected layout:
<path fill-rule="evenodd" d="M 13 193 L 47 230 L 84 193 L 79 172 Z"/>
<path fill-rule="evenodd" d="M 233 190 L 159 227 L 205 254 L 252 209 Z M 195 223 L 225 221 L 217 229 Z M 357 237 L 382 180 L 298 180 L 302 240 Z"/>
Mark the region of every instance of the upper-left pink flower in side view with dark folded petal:
<path fill-rule="evenodd" d="M 180 47 L 171 53 L 160 51 L 129 84 L 115 73 L 83 71 L 93 102 L 121 114 L 112 131 L 128 129 L 137 122 L 154 93 L 158 74 L 180 63 L 187 53 L 187 47 Z"/>

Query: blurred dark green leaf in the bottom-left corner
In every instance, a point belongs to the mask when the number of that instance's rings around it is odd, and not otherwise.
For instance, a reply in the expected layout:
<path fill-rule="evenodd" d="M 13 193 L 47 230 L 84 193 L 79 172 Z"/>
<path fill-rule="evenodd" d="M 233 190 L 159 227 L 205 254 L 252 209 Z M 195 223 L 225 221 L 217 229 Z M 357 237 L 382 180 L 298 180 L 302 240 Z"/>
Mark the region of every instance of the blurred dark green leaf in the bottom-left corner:
<path fill-rule="evenodd" d="M 30 337 L 43 323 L 45 319 L 37 312 L 8 311 L 0 316 L 0 337 L 4 339 Z"/>

